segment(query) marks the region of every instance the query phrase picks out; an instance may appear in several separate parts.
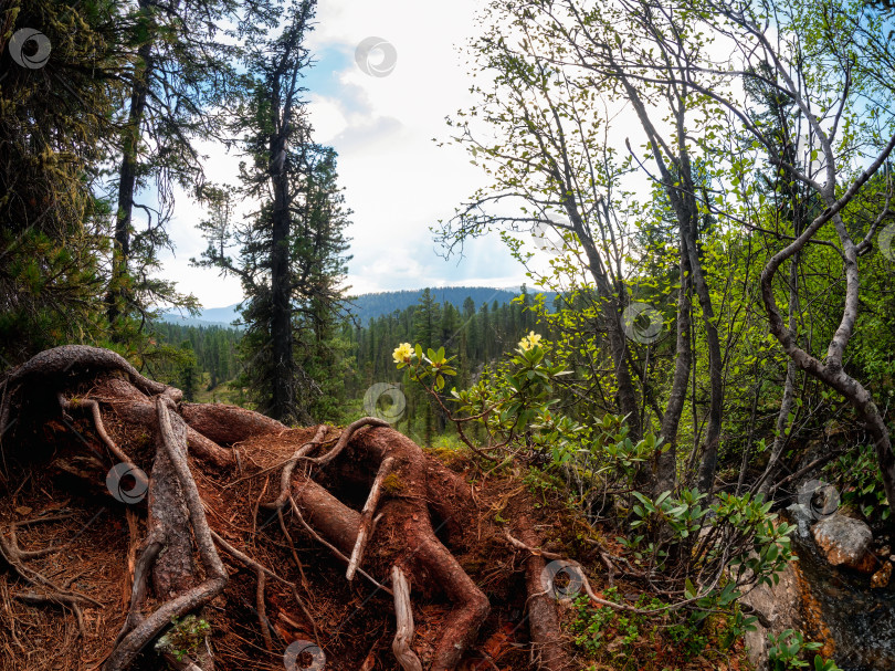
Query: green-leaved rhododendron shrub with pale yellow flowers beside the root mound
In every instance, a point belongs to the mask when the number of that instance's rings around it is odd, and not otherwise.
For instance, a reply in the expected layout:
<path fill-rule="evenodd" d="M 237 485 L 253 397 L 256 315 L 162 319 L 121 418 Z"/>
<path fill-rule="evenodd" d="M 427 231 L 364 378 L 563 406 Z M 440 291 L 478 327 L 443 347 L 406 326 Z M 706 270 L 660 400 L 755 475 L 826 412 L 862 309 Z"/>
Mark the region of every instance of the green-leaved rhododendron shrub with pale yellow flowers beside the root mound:
<path fill-rule="evenodd" d="M 444 348 L 424 353 L 421 345 L 402 343 L 392 357 L 476 454 L 493 462 L 519 460 L 561 476 L 568 500 L 580 504 L 591 523 L 601 518 L 624 534 L 619 541 L 629 566 L 674 595 L 667 608 L 686 608 L 691 627 L 712 612 L 733 611 L 744 590 L 776 579 L 791 557 L 791 527 L 777 523 L 771 504 L 750 494 L 720 492 L 708 504 L 697 490 L 655 497 L 639 492 L 638 473 L 662 451 L 662 440 L 647 433 L 634 442 L 621 417 L 581 424 L 559 411 L 555 386 L 570 371 L 550 361 L 548 347 L 530 332 L 476 384 L 445 396 L 445 379 L 456 373 Z M 468 438 L 471 424 L 483 429 L 482 444 Z M 740 620 L 738 631 L 752 627 L 754 618 Z"/>

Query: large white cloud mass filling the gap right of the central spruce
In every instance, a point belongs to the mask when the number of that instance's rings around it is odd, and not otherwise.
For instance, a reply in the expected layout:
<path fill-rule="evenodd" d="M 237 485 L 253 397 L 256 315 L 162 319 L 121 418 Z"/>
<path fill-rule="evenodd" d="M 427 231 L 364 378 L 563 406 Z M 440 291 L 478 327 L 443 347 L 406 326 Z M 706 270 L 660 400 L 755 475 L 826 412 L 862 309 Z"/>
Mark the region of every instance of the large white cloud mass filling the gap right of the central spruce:
<path fill-rule="evenodd" d="M 318 132 L 337 127 L 328 137 L 319 133 L 319 139 L 339 151 L 340 181 L 355 211 L 349 230 L 355 292 L 524 280 L 496 237 L 471 243 L 468 251 L 486 253 L 470 253 L 457 264 L 435 255 L 429 232 L 483 180 L 464 150 L 432 141 L 446 136 L 444 117 L 472 102 L 456 48 L 476 30 L 476 7 L 470 0 L 439 7 L 343 0 L 320 7 L 312 42 L 347 50 L 347 64 L 335 73 L 337 91 L 313 96 L 310 115 Z M 357 44 L 371 35 L 396 49 L 388 76 L 370 76 L 354 62 Z"/>

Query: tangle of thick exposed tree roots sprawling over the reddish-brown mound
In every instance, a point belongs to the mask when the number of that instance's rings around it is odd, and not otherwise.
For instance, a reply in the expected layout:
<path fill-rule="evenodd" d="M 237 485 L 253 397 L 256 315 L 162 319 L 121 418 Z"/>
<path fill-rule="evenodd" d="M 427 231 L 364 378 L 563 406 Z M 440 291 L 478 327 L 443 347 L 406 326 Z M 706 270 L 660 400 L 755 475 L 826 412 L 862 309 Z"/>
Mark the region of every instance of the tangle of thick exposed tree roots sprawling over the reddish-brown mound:
<path fill-rule="evenodd" d="M 38 380 L 40 394 L 32 397 L 30 382 Z M 322 552 L 316 548 L 343 563 L 346 591 L 341 599 L 357 597 L 352 608 L 391 597 L 394 620 L 387 618 L 379 625 L 355 669 L 373 668 L 382 653 L 379 641 L 387 646 L 389 639 L 393 657 L 385 668 L 453 671 L 464 656 L 474 654 L 491 602 L 461 558 L 473 548 L 492 548 L 493 513 L 480 506 L 481 493 L 463 475 L 386 422 L 362 418 L 341 431 L 325 424 L 298 430 L 233 406 L 179 403 L 178 390 L 144 378 L 118 355 L 81 346 L 42 353 L 9 373 L 0 386 L 0 430 L 12 428 L 10 418 L 15 412 L 17 419 L 33 417 L 31 427 L 57 426 L 55 431 L 70 437 L 71 444 L 49 457 L 54 470 L 94 485 L 104 482 L 104 471 L 116 463 L 127 464 L 137 476 L 148 473 L 145 501 L 126 502 L 128 539 L 122 555 L 123 579 L 116 584 L 124 587 L 127 608 L 106 639 L 118 632 L 101 660 L 103 671 L 144 668 L 141 660 L 152 656 L 176 669 L 211 671 L 214 665 L 254 668 L 254 657 L 266 654 L 268 665 L 259 668 L 272 668 L 282 659 L 284 647 L 303 633 L 326 654 L 350 647 L 350 639 L 327 632 L 333 617 L 322 617 L 327 601 L 315 596 L 319 578 L 312 584 L 306 576 L 306 567 L 320 570 L 314 564 Z M 63 423 L 53 424 L 60 407 L 72 417 L 63 415 Z M 74 412 L 77 409 L 88 415 Z M 78 431 L 73 422 L 81 422 Z M 17 433 L 19 426 L 14 429 L 4 437 L 13 447 L 31 436 L 24 429 Z M 518 490 L 504 499 L 516 495 Z M 65 518 L 51 515 L 43 521 Z M 0 555 L 18 576 L 13 579 L 28 587 L 13 596 L 23 602 L 67 608 L 75 614 L 83 637 L 81 608 L 107 609 L 109 604 L 30 567 L 59 546 L 21 549 L 15 527 L 0 533 Z M 534 549 L 539 539 L 531 530 L 526 522 L 515 531 L 520 539 L 507 535 L 515 541 L 515 551 L 526 553 L 529 616 L 525 629 L 530 630 L 539 665 L 560 671 L 570 662 L 555 602 L 536 594 L 548 555 Z M 228 558 L 230 572 L 218 548 Z M 498 567 L 506 567 L 499 569 L 503 580 L 516 579 L 513 549 L 498 543 L 487 552 L 504 557 L 496 559 Z M 364 580 L 352 580 L 355 574 Z M 422 635 L 414 628 L 411 593 L 422 604 L 446 602 L 434 623 L 423 617 L 424 653 L 418 646 Z M 520 599 L 518 606 L 526 602 Z M 253 616 L 243 610 L 231 620 L 230 609 L 243 607 Z M 157 649 L 154 643 L 161 635 L 172 635 L 172 619 L 187 615 L 211 619 L 214 640 L 193 641 L 187 657 Z M 351 610 L 340 617 L 350 619 Z M 215 618 L 240 622 L 239 631 L 222 629 Z M 390 628 L 391 621 L 394 633 L 388 637 L 381 628 Z M 248 629 L 246 622 L 251 622 Z M 234 644 L 244 646 L 242 658 L 233 652 Z M 222 650 L 231 657 L 222 658 Z M 341 668 L 347 667 L 333 665 L 334 671 Z"/>

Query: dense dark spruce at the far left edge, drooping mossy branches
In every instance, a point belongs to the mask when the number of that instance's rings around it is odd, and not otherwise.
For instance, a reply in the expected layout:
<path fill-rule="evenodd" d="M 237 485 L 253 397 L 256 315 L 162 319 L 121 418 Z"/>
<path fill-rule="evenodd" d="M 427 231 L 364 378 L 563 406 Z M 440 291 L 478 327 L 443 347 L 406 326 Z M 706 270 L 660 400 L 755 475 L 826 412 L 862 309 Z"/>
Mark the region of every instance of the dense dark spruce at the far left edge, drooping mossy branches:
<path fill-rule="evenodd" d="M 120 97 L 117 3 L 0 4 L 0 367 L 102 338 L 106 203 Z M 36 30 L 13 57 L 10 40 Z M 33 33 L 32 33 L 33 34 Z M 27 66 L 21 54 L 34 56 Z M 18 59 L 18 60 L 17 60 Z"/>

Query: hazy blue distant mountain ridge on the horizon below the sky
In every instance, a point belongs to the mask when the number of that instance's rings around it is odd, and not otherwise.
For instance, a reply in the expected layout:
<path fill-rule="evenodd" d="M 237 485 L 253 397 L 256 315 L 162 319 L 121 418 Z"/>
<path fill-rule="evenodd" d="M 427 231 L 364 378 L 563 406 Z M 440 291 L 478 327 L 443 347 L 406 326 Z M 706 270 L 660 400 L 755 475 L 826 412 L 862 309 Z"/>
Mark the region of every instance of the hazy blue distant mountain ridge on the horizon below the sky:
<path fill-rule="evenodd" d="M 370 319 L 383 315 L 390 315 L 396 310 L 404 310 L 415 305 L 420 301 L 424 289 L 383 291 L 371 294 L 360 294 L 350 303 L 350 311 L 361 326 L 366 326 Z M 430 286 L 433 297 L 439 303 L 451 303 L 454 307 L 462 310 L 463 302 L 470 297 L 478 308 L 482 303 L 491 305 L 495 301 L 498 304 L 509 303 L 522 293 L 519 289 L 494 289 L 493 286 Z M 545 294 L 548 304 L 556 296 L 552 292 L 538 292 L 528 290 L 528 293 Z M 236 306 L 239 303 L 225 307 L 209 307 L 202 310 L 197 317 L 181 315 L 178 311 L 166 311 L 161 314 L 161 321 L 170 324 L 182 324 L 187 326 L 230 326 L 239 318 Z"/>

